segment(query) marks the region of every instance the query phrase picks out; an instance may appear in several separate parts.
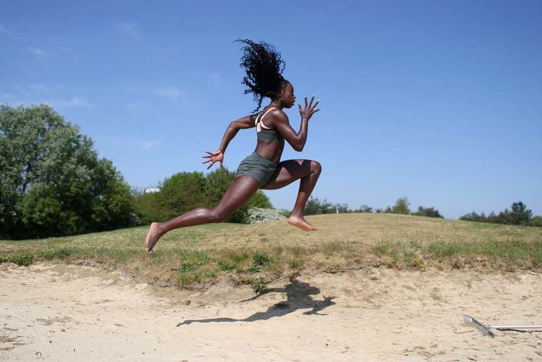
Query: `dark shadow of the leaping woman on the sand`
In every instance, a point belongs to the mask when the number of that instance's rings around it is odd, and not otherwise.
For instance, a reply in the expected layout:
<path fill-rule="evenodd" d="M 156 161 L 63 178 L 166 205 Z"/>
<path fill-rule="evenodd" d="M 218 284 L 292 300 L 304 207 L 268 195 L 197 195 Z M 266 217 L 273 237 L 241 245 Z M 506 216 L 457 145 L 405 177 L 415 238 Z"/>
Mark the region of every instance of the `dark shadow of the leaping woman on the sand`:
<path fill-rule="evenodd" d="M 330 305 L 334 305 L 333 299 L 334 296 L 324 296 L 322 301 L 314 301 L 311 296 L 316 296 L 320 294 L 320 289 L 317 287 L 312 287 L 308 283 L 298 282 L 293 280 L 290 284 L 286 285 L 284 288 L 269 288 L 263 289 L 260 294 L 253 296 L 252 298 L 246 299 L 241 302 L 253 301 L 260 296 L 263 296 L 267 293 L 286 293 L 286 301 L 276 303 L 267 308 L 265 312 L 256 312 L 249 317 L 244 319 L 234 319 L 234 318 L 209 318 L 209 319 L 186 319 L 182 323 L 177 324 L 177 326 L 182 326 L 183 324 L 192 324 L 192 323 L 211 323 L 211 322 L 232 322 L 232 321 L 262 321 L 267 320 L 273 317 L 282 317 L 283 315 L 290 314 L 300 309 L 312 308 L 303 314 L 317 314 L 317 315 L 326 315 L 320 313 L 321 310 L 324 310 Z"/>

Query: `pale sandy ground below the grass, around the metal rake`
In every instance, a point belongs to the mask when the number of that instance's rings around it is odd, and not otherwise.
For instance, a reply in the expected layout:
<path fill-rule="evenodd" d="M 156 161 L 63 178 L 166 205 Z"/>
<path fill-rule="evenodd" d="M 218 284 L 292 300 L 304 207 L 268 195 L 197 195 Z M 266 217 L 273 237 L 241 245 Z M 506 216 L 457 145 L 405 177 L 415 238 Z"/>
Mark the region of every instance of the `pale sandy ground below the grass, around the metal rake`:
<path fill-rule="evenodd" d="M 1 361 L 542 361 L 542 276 L 369 268 L 253 298 L 175 291 L 88 266 L 0 266 Z M 248 301 L 247 301 L 248 300 Z M 188 302 L 190 301 L 190 302 Z"/>

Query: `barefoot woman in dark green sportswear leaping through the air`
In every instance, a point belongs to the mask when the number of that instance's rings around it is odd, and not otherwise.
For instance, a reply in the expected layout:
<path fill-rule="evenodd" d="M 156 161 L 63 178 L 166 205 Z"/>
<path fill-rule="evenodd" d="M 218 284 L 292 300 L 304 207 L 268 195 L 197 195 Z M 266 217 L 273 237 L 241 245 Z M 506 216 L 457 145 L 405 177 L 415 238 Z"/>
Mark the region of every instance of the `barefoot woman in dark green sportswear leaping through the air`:
<path fill-rule="evenodd" d="M 249 201 L 258 189 L 280 189 L 296 180 L 300 180 L 299 191 L 288 222 L 305 231 L 318 230 L 305 220 L 303 208 L 321 173 L 320 164 L 307 159 L 280 161 L 280 157 L 284 150 L 284 140 L 288 141 L 294 150 L 303 151 L 307 141 L 309 120 L 320 110 L 315 109 L 319 101 L 313 105 L 314 96 L 312 96 L 310 102 L 307 102 L 305 97 L 304 108 L 298 104 L 301 126 L 298 132 L 294 131 L 283 108 L 291 108 L 296 96 L 293 95 L 293 85 L 282 76 L 285 63 L 280 53 L 272 45 L 264 42 L 253 43 L 247 39 L 237 41 L 246 44 L 241 58 L 241 66 L 246 70 L 243 84 L 248 87 L 244 93 L 253 93 L 254 100 L 258 102 L 258 108 L 254 112 L 258 112 L 264 97 L 269 97 L 271 102 L 260 113 L 231 122 L 218 151 L 206 151 L 208 155 L 203 158 L 209 160 L 203 161 L 202 164 L 211 162 L 207 168 L 209 169 L 216 162 L 220 162 L 222 167 L 226 147 L 239 129 L 256 127 L 258 136 L 256 150 L 241 161 L 235 173 L 235 181 L 215 208 L 197 208 L 167 222 L 153 222 L 146 237 L 148 252 L 153 251 L 158 239 L 168 231 L 186 226 L 223 222 Z"/>

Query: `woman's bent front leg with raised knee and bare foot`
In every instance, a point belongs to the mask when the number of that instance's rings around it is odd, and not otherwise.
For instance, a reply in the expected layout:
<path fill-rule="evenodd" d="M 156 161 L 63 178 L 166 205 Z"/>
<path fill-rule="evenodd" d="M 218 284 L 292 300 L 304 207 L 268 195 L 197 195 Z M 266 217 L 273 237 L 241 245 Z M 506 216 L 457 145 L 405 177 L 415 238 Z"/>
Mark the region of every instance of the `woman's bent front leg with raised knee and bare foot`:
<path fill-rule="evenodd" d="M 318 228 L 312 226 L 303 217 L 303 208 L 309 200 L 309 196 L 316 185 L 322 167 L 318 161 L 310 159 L 289 159 L 282 161 L 277 167 L 263 189 L 274 190 L 285 187 L 296 180 L 299 182 L 299 191 L 296 204 L 293 206 L 292 215 L 288 218 L 289 224 L 305 231 L 316 231 Z"/>

